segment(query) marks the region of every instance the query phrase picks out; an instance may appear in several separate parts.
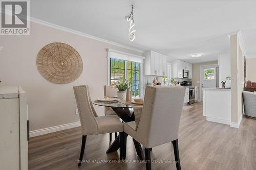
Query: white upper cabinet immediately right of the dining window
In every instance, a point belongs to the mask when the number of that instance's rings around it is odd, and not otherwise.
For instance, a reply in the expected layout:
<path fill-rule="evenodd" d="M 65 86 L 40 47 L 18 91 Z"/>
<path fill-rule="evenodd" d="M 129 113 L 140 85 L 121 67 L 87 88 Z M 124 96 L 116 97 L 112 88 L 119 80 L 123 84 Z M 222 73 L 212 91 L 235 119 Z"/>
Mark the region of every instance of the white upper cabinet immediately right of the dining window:
<path fill-rule="evenodd" d="M 144 60 L 144 74 L 145 76 L 166 76 L 167 56 L 154 51 L 147 51 Z"/>

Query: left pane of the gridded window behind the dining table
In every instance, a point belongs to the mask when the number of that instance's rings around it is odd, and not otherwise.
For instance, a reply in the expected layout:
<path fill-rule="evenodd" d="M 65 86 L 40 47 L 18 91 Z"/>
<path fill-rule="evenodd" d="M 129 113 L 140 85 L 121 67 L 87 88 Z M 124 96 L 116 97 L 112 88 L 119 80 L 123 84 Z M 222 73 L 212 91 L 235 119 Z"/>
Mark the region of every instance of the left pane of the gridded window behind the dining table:
<path fill-rule="evenodd" d="M 114 85 L 115 82 L 121 78 L 125 78 L 125 61 L 119 59 L 110 59 L 110 84 Z"/>

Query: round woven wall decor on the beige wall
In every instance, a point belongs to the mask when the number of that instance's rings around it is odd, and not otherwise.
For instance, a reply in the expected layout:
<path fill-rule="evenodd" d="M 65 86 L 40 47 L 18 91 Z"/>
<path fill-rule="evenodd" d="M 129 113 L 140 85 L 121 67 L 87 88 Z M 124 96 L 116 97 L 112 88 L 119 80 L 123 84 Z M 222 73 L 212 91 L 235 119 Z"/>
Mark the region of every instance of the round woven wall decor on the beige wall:
<path fill-rule="evenodd" d="M 44 46 L 38 52 L 36 65 L 42 77 L 56 84 L 71 83 L 82 73 L 82 59 L 78 52 L 61 42 Z"/>

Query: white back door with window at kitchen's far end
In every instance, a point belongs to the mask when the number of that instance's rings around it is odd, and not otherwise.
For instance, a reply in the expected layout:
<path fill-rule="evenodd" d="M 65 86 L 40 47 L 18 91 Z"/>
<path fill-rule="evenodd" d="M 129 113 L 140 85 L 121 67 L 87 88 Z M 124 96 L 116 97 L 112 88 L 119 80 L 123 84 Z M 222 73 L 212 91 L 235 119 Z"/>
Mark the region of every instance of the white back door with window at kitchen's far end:
<path fill-rule="evenodd" d="M 204 88 L 217 87 L 219 81 L 218 65 L 200 65 L 200 96 L 203 102 Z"/>

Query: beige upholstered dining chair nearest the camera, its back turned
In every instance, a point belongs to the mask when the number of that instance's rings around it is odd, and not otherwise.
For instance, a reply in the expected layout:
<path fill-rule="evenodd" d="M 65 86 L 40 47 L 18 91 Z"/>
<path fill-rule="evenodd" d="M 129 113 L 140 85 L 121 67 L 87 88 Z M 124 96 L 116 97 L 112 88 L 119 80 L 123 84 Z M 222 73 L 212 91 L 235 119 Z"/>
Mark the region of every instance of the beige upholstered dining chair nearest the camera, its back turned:
<path fill-rule="evenodd" d="M 172 141 L 176 167 L 180 169 L 178 130 L 184 95 L 184 87 L 146 87 L 143 108 L 134 108 L 136 121 L 123 125 L 123 159 L 125 159 L 127 135 L 144 145 L 146 169 L 151 169 L 152 148 Z M 138 120 L 140 113 L 141 117 Z"/>

